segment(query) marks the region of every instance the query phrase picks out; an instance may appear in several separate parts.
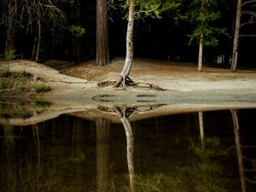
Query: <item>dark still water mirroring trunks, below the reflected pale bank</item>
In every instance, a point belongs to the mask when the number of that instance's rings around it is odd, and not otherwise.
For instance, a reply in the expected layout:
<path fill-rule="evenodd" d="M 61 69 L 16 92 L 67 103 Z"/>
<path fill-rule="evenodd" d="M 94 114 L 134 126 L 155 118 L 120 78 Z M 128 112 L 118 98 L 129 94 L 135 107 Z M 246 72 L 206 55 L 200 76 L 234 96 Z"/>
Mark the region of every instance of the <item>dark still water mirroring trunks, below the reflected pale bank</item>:
<path fill-rule="evenodd" d="M 253 192 L 255 112 L 0 125 L 0 191 Z"/>

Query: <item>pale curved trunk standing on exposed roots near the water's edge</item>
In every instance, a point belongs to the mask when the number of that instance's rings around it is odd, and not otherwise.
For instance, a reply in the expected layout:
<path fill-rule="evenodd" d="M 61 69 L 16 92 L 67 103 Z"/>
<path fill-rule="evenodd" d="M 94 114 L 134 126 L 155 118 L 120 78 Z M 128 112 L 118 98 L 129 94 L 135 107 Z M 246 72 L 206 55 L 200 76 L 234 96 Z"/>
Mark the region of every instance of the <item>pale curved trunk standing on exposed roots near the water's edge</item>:
<path fill-rule="evenodd" d="M 125 65 L 123 67 L 122 72 L 120 73 L 120 78 L 113 85 L 114 87 L 118 87 L 123 81 L 123 88 L 125 88 L 125 81 L 128 80 L 130 82 L 129 74 L 131 72 L 131 64 L 133 60 L 133 26 L 134 26 L 134 12 L 135 12 L 135 0 L 130 0 L 129 5 L 129 17 L 128 17 L 128 26 L 126 32 L 126 56 L 125 56 Z"/>

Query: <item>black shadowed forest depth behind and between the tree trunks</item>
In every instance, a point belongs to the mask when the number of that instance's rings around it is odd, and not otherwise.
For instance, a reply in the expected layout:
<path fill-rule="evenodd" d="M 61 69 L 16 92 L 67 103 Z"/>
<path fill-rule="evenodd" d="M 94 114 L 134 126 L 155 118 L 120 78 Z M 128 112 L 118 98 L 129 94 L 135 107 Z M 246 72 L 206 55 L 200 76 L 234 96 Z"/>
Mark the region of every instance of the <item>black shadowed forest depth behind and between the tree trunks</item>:
<path fill-rule="evenodd" d="M 12 0 L 9 0 L 12 1 Z M 43 0 L 41 0 L 43 2 Z M 19 1 L 18 1 L 19 2 Z M 113 1 L 118 4 L 120 1 Z M 233 33 L 236 19 L 236 2 L 223 1 L 219 11 L 222 17 L 216 25 L 226 28 L 230 37 L 220 35 L 218 46 L 206 47 L 205 61 L 216 63 L 223 56 L 223 63 L 230 64 L 232 55 Z M 1 0 L 1 28 L 0 28 L 0 54 L 6 49 L 7 0 Z M 108 9 L 108 35 L 111 58 L 125 56 L 126 23 L 125 10 L 120 6 Z M 188 7 L 186 3 L 178 9 L 179 15 L 185 14 Z M 42 21 L 41 48 L 39 50 L 40 62 L 48 60 L 86 61 L 96 57 L 96 0 L 56 1 L 55 6 L 62 11 L 65 20 L 59 17 L 46 16 Z M 45 15 L 47 15 L 45 11 Z M 16 18 L 19 18 L 17 9 Z M 245 15 L 241 20 L 249 20 Z M 246 22 L 244 21 L 244 22 Z M 37 20 L 32 20 L 32 25 Z M 17 58 L 32 59 L 32 49 L 37 36 L 36 25 L 27 28 L 26 20 L 14 21 L 14 48 Z M 85 29 L 83 35 L 70 30 L 70 26 L 79 26 Z M 186 20 L 177 17 L 177 10 L 167 10 L 160 18 L 145 17 L 135 22 L 134 54 L 136 57 L 165 60 L 165 61 L 192 61 L 198 59 L 198 44 L 189 44 L 189 36 L 193 26 Z M 241 28 L 241 34 L 256 34 L 255 25 Z M 74 40 L 75 39 L 75 40 Z M 239 66 L 255 67 L 255 44 L 253 36 L 241 36 L 239 44 Z M 73 51 L 78 49 L 79 55 Z M 77 57 L 77 58 L 76 58 Z"/>

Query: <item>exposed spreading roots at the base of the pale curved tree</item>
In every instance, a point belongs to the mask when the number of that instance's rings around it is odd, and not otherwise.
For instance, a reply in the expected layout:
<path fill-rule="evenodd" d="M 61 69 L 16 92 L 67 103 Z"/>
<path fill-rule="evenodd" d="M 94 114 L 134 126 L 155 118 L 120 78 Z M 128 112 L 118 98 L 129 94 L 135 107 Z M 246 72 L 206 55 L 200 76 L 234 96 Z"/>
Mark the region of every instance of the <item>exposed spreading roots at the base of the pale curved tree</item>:
<path fill-rule="evenodd" d="M 103 81 L 97 85 L 99 87 L 108 87 L 110 85 L 113 85 L 113 88 L 122 88 L 123 90 L 125 90 L 126 87 L 134 87 L 137 89 L 148 89 L 148 90 L 164 90 L 156 84 L 149 84 L 147 82 L 135 83 L 133 80 L 131 80 L 129 76 L 125 78 L 122 76 L 119 76 L 119 79 L 117 79 L 116 81 Z"/>

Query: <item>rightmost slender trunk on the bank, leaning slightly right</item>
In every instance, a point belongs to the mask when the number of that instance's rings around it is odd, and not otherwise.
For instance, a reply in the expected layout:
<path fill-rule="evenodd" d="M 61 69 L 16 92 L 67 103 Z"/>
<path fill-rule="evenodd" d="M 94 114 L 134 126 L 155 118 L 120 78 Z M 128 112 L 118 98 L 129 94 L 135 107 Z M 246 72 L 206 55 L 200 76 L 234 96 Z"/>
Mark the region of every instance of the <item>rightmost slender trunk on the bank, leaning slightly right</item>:
<path fill-rule="evenodd" d="M 241 23 L 241 0 L 237 0 L 236 26 L 235 26 L 235 34 L 234 34 L 234 44 L 233 44 L 233 53 L 232 53 L 231 72 L 236 72 L 237 55 L 238 55 L 238 43 L 239 43 L 239 33 L 240 33 L 240 23 Z"/>

